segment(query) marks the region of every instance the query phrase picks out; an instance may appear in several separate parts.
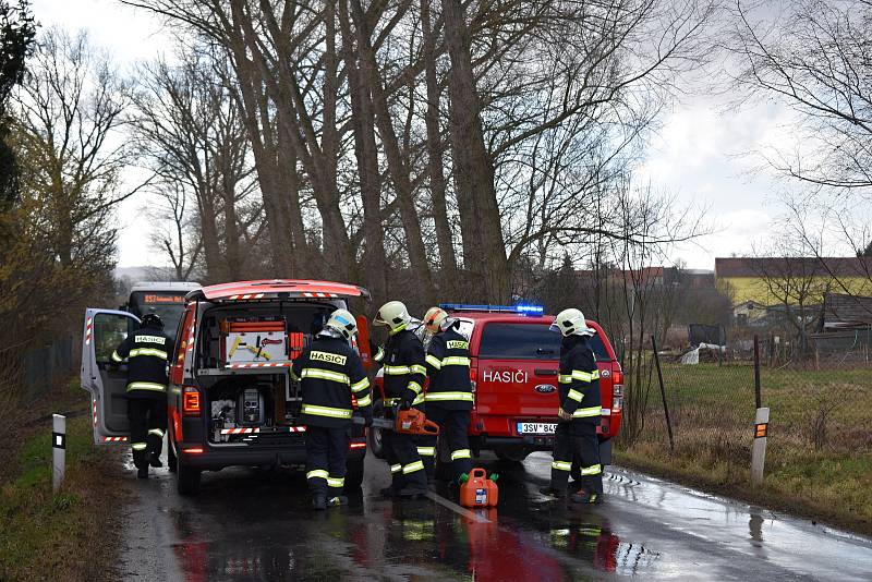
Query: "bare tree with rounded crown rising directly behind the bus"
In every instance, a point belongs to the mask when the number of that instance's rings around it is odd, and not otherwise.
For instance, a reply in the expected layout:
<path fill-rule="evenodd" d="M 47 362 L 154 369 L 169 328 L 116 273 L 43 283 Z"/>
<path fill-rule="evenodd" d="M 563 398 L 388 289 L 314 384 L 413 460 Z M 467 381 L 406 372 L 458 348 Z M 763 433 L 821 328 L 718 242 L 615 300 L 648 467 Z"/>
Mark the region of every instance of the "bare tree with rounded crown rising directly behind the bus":
<path fill-rule="evenodd" d="M 138 153 L 160 177 L 158 189 L 170 201 L 177 226 L 177 210 L 185 201 L 178 189 L 185 187 L 196 201 L 197 220 L 185 226 L 196 227 L 206 280 L 239 279 L 245 270 L 237 206 L 256 185 L 237 102 L 214 73 L 220 65 L 196 50 L 186 52 L 179 65 L 144 65 L 134 96 Z M 173 248 L 171 260 L 183 265 L 183 246 Z"/>

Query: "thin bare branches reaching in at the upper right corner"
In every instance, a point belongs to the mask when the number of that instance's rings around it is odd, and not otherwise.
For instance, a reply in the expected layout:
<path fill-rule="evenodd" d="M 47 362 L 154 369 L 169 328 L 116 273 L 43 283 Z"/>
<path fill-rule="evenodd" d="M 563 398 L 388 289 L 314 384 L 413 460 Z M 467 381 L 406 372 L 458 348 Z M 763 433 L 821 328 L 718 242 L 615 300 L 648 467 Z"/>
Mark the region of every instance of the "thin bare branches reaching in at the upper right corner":
<path fill-rule="evenodd" d="M 872 2 L 800 0 L 777 16 L 736 0 L 738 81 L 791 107 L 802 147 L 773 150 L 776 170 L 813 185 L 872 186 Z"/>

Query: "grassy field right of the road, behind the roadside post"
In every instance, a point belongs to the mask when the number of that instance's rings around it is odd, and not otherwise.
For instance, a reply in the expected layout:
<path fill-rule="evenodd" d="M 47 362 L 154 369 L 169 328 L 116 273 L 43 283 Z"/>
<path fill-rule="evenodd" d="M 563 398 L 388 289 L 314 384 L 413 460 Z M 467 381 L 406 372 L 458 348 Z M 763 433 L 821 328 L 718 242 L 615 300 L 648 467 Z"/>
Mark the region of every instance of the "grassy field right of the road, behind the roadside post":
<path fill-rule="evenodd" d="M 872 368 L 762 369 L 771 412 L 761 487 L 750 486 L 753 367 L 663 372 L 675 452 L 656 393 L 639 438 L 618 445 L 618 463 L 872 534 Z"/>

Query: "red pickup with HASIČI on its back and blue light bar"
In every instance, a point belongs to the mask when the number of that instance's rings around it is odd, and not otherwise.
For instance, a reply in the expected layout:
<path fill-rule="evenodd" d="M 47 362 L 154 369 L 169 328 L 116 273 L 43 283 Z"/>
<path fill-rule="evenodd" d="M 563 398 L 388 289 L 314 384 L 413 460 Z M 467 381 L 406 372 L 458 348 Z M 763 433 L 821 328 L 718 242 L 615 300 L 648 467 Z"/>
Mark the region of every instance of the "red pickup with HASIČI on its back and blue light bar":
<path fill-rule="evenodd" d="M 559 334 L 548 328 L 553 315 L 537 305 L 443 304 L 460 320 L 470 339 L 470 378 L 475 392 L 470 423 L 474 454 L 492 450 L 500 459 L 522 461 L 533 451 L 550 451 L 557 428 Z M 623 372 L 608 338 L 596 322 L 592 348 L 600 367 L 601 458 L 611 459 L 611 438 L 620 429 Z M 380 377 L 376 378 L 378 387 Z M 378 393 L 378 391 L 377 391 Z M 371 447 L 380 452 L 380 435 L 371 431 Z"/>

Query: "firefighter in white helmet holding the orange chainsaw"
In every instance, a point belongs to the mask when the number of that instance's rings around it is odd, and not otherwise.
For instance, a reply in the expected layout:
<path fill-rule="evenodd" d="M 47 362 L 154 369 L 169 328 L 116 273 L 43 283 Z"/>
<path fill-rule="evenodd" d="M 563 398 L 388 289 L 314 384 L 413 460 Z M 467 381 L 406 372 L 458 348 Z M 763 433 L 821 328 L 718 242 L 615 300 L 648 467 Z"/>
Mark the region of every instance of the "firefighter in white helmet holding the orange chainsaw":
<path fill-rule="evenodd" d="M 412 317 L 399 301 L 385 303 L 373 319 L 374 325 L 387 326 L 389 338 L 374 357 L 385 373 L 385 410 L 391 415 L 393 405 L 402 410 L 424 403 L 424 345 L 410 329 Z M 391 485 L 383 495 L 419 497 L 427 492 L 424 462 L 412 435 L 385 431 L 385 452 L 390 463 Z"/>

